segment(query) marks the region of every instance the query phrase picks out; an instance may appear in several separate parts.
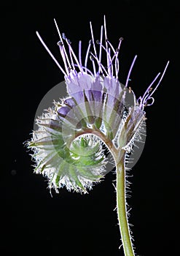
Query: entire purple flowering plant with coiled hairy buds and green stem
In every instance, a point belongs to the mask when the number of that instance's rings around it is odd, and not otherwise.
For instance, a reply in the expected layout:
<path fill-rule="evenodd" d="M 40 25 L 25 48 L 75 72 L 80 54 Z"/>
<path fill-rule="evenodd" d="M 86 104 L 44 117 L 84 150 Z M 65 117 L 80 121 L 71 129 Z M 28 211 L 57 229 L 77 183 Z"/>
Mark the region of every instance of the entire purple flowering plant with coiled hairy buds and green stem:
<path fill-rule="evenodd" d="M 133 59 L 123 86 L 118 79 L 122 37 L 117 48 L 114 48 L 107 37 L 105 17 L 99 40 L 95 41 L 90 23 L 91 39 L 84 64 L 82 42 L 79 42 L 77 57 L 71 41 L 64 33 L 60 34 L 56 21 L 55 26 L 60 37 L 58 48 L 64 67 L 60 66 L 39 33 L 36 34 L 63 72 L 68 96 L 60 99 L 60 102 L 54 102 L 52 108 L 36 119 L 38 129 L 27 143 L 28 148 L 34 151 L 34 171 L 47 177 L 49 188 L 56 192 L 61 187 L 66 187 L 69 191 L 87 193 L 108 172 L 104 151 L 107 148 L 117 170 L 117 214 L 123 249 L 125 256 L 134 255 L 127 217 L 125 188 L 128 188 L 128 183 L 125 173 L 136 143 L 144 142 L 144 108 L 154 103 L 152 96 L 160 85 L 168 64 L 163 75 L 157 74 L 144 95 L 137 100 L 133 90 L 128 87 L 137 56 Z M 106 63 L 102 61 L 103 54 L 106 56 Z M 153 89 L 157 79 L 159 80 Z"/>

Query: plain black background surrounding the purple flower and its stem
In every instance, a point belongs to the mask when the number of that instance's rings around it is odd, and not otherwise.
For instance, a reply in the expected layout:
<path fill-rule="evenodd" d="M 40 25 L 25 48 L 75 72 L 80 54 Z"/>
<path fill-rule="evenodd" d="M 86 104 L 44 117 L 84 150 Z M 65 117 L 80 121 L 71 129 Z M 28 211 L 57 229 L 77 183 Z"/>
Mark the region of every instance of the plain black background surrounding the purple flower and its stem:
<path fill-rule="evenodd" d="M 89 21 L 99 38 L 106 15 L 109 40 L 121 48 L 120 81 L 125 83 L 130 62 L 138 59 L 130 86 L 141 95 L 157 72 L 170 65 L 146 110 L 146 144 L 133 177 L 128 203 L 137 255 L 179 255 L 179 27 L 180 12 L 169 4 L 133 1 L 8 1 L 1 4 L 1 255 L 123 255 L 117 225 L 115 174 L 88 195 L 47 190 L 47 181 L 33 173 L 28 140 L 34 115 L 44 94 L 63 80 L 35 31 L 60 60 L 53 18 L 74 49 L 87 45 Z M 77 50 L 75 50 L 77 52 Z M 1 61 L 2 62 L 2 61 Z M 62 62 L 61 62 L 62 63 Z M 4 78 L 4 79 L 3 79 Z"/>

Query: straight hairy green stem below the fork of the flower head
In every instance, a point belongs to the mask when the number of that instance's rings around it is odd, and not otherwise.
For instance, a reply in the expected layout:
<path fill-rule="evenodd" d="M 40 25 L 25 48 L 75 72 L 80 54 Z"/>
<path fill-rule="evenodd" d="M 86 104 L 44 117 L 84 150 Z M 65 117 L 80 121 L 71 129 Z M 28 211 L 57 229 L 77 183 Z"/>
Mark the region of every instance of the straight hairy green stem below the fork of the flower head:
<path fill-rule="evenodd" d="M 125 256 L 134 256 L 133 245 L 130 239 L 128 217 L 125 201 L 125 164 L 124 157 L 117 164 L 117 216 L 122 237 L 122 246 Z"/>

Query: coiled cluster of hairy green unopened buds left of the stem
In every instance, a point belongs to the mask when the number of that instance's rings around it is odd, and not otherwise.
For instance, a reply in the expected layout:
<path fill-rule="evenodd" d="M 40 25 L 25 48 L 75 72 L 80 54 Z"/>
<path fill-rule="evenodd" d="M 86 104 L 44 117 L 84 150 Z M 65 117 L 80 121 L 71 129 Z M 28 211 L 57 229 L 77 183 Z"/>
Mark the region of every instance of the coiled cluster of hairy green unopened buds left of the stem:
<path fill-rule="evenodd" d="M 35 172 L 47 177 L 50 189 L 53 187 L 57 192 L 66 186 L 86 193 L 93 182 L 101 181 L 105 175 L 102 142 L 94 135 L 82 135 L 74 140 L 68 136 L 67 143 L 62 129 L 68 128 L 69 122 L 63 122 L 58 114 L 56 120 L 51 117 L 52 110 L 37 120 L 39 129 L 28 142 L 28 147 L 34 150 Z"/>

